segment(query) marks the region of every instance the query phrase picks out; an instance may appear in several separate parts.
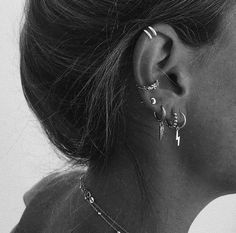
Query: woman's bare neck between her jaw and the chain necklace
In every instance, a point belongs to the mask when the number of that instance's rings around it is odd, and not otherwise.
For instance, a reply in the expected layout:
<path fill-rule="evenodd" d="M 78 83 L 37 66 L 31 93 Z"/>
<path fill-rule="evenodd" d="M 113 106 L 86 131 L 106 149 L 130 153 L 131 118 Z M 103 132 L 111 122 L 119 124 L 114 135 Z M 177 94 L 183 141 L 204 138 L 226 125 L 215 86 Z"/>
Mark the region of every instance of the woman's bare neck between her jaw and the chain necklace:
<path fill-rule="evenodd" d="M 218 192 L 186 166 L 184 158 L 191 155 L 178 152 L 174 140 L 159 142 L 158 127 L 144 131 L 129 130 L 106 172 L 88 171 L 87 185 L 129 233 L 187 233 Z M 173 134 L 168 130 L 165 136 Z"/>

